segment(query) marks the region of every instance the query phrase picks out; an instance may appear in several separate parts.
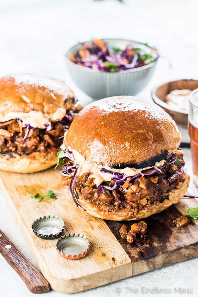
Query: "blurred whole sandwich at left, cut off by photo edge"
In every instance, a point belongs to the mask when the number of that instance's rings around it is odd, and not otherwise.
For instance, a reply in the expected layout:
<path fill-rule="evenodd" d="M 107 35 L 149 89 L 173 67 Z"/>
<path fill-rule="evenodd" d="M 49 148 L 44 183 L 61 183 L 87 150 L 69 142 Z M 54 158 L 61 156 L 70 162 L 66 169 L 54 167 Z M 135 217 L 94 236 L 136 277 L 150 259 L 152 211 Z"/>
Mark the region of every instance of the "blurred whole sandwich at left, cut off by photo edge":
<path fill-rule="evenodd" d="M 31 74 L 0 79 L 0 169 L 31 173 L 56 164 L 74 93 L 64 81 Z"/>

